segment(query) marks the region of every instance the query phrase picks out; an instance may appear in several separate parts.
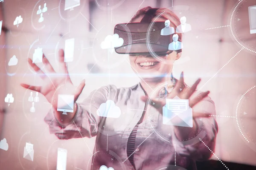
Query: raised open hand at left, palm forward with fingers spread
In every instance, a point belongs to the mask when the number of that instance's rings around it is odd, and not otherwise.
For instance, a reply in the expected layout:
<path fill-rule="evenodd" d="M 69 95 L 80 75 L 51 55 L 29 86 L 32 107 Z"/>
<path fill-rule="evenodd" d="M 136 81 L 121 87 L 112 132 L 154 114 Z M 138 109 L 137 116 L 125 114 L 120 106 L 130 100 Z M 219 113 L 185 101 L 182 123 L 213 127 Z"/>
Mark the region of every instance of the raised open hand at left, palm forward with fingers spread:
<path fill-rule="evenodd" d="M 44 80 L 44 85 L 34 86 L 27 84 L 20 84 L 22 87 L 38 91 L 43 94 L 49 103 L 52 104 L 53 109 L 55 110 L 55 118 L 57 118 L 58 122 L 66 122 L 66 120 L 70 120 L 73 118 L 76 113 L 76 100 L 81 94 L 85 80 L 83 80 L 78 87 L 75 87 L 71 82 L 70 75 L 67 71 L 67 65 L 64 62 L 64 51 L 62 49 L 58 52 L 59 59 L 59 73 L 57 74 L 55 70 L 52 68 L 52 65 L 49 63 L 48 59 L 43 54 L 43 63 L 44 63 L 44 71 L 39 68 L 35 63 L 32 62 L 32 59 L 28 59 L 29 65 L 39 74 L 39 76 Z M 74 111 L 72 113 L 68 113 L 68 115 L 62 115 L 62 112 L 57 112 L 57 103 L 58 103 L 58 94 L 73 94 L 74 95 Z M 62 121 L 60 121 L 62 120 Z"/>

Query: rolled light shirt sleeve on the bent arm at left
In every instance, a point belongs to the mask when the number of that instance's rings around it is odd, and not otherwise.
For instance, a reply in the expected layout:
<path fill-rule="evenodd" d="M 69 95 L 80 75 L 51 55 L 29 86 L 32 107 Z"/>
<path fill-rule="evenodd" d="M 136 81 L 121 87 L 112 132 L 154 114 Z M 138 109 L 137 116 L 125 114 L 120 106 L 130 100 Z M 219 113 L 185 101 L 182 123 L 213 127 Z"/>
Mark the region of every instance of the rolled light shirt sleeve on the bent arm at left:
<path fill-rule="evenodd" d="M 54 119 L 52 110 L 47 113 L 44 121 L 49 125 L 49 132 L 54 133 L 58 139 L 72 139 L 96 136 L 98 124 L 101 118 L 96 111 L 99 106 L 107 101 L 109 86 L 102 86 L 90 95 L 82 103 L 77 104 L 77 111 L 73 120 L 61 125 Z"/>

